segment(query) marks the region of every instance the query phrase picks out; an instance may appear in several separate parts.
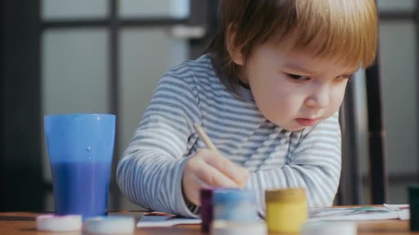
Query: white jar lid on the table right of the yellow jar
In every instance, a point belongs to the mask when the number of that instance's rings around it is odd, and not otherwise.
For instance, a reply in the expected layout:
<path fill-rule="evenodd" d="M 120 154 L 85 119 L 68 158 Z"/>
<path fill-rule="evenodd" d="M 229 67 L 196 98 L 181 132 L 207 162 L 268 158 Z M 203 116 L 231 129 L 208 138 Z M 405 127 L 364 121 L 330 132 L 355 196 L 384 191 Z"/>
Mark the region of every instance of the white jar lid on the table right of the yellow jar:
<path fill-rule="evenodd" d="M 356 223 L 350 221 L 316 221 L 303 225 L 301 235 L 356 235 Z"/>

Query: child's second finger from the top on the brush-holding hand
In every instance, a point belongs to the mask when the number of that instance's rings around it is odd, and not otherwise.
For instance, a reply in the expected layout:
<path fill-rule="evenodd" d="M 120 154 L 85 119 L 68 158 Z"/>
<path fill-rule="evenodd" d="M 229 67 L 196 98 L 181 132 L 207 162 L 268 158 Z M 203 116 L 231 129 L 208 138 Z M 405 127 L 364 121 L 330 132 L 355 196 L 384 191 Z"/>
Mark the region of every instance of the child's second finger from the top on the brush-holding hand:
<path fill-rule="evenodd" d="M 236 188 L 238 184 L 208 164 L 202 164 L 196 171 L 196 176 L 203 182 L 214 187 Z"/>

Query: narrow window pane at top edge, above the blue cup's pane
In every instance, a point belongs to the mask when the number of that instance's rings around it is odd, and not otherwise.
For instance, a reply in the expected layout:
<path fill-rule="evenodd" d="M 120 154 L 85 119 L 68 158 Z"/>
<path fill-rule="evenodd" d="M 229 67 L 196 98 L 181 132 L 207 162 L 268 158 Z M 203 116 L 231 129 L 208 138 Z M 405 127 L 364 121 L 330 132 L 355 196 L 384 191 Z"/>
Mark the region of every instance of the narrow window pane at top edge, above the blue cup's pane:
<path fill-rule="evenodd" d="M 108 15 L 108 0 L 43 0 L 42 19 L 103 18 Z"/>

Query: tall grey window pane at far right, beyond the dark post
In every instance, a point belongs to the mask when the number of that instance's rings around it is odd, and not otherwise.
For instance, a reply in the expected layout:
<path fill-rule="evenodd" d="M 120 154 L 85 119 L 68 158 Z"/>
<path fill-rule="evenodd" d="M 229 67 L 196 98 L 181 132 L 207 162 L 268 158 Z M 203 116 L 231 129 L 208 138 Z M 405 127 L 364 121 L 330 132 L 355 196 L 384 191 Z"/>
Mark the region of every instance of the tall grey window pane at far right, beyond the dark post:
<path fill-rule="evenodd" d="M 418 172 L 418 82 L 416 25 L 380 23 L 380 71 L 389 175 Z M 415 179 L 413 179 L 415 180 Z M 391 184 L 391 181 L 390 181 Z M 406 200 L 406 188 L 391 185 L 390 202 Z"/>

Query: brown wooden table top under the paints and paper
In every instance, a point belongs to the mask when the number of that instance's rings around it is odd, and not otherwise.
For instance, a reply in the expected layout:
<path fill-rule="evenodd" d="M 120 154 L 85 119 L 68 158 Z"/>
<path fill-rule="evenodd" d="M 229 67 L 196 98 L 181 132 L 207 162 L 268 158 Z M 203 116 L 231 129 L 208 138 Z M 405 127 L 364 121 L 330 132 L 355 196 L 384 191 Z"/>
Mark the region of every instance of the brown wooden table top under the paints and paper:
<path fill-rule="evenodd" d="M 141 217 L 143 212 L 118 212 L 110 214 L 130 214 L 136 219 Z M 0 235 L 36 234 L 36 235 L 81 235 L 82 232 L 38 232 L 35 217 L 39 213 L 33 212 L 3 212 L 0 213 Z M 179 225 L 176 227 L 136 229 L 135 234 L 159 235 L 159 234 L 203 234 L 200 225 Z M 274 233 L 270 233 L 274 234 Z M 360 221 L 358 222 L 358 235 L 376 234 L 419 234 L 409 232 L 409 221 L 387 220 L 387 221 Z"/>

